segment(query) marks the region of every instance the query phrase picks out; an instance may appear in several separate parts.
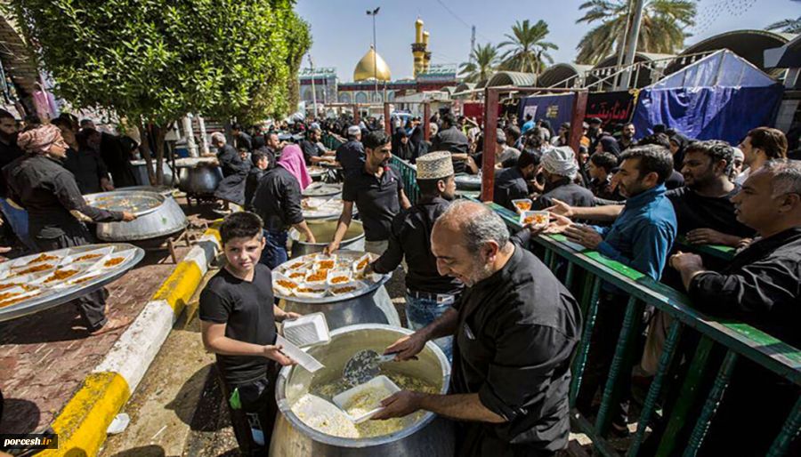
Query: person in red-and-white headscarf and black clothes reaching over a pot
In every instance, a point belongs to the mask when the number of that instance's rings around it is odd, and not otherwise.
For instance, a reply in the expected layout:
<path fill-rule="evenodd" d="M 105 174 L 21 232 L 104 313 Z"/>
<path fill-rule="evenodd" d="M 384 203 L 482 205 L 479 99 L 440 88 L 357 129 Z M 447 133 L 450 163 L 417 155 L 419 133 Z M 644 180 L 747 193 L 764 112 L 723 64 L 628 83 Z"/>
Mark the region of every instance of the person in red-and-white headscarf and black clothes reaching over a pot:
<path fill-rule="evenodd" d="M 61 165 L 69 146 L 61 131 L 45 124 L 20 133 L 17 144 L 25 155 L 4 167 L 9 195 L 28 210 L 30 236 L 39 252 L 92 243 L 82 220 L 134 220 L 130 212 L 105 211 L 86 204 L 75 177 Z M 130 319 L 106 317 L 105 289 L 73 301 L 92 334 L 128 325 Z"/>

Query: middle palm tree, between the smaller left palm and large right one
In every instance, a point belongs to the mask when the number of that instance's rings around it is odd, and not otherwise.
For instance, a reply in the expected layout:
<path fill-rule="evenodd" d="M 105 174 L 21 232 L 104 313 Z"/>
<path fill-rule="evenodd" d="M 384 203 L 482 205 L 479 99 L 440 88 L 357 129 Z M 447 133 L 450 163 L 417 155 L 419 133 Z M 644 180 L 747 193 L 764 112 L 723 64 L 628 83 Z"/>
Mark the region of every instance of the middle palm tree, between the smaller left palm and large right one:
<path fill-rule="evenodd" d="M 559 46 L 546 40 L 548 24 L 538 20 L 533 26 L 529 20 L 517 21 L 512 26 L 512 35 L 506 34 L 507 41 L 498 44 L 507 48 L 501 56 L 501 67 L 523 73 L 539 73 L 546 68 L 545 62 L 554 63 L 548 50 L 559 49 Z"/>

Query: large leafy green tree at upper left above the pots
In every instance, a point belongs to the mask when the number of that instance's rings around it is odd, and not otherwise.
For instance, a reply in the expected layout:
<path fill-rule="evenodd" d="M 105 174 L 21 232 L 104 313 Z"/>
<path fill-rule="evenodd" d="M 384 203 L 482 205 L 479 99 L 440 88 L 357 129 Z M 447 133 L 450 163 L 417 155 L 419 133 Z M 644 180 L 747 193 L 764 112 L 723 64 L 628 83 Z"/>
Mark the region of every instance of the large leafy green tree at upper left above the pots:
<path fill-rule="evenodd" d="M 259 118 L 287 112 L 294 78 L 289 0 L 10 0 L 56 93 L 76 108 L 105 108 L 155 145 L 162 182 L 166 127 L 188 112 Z M 298 25 L 303 24 L 303 25 Z M 294 52 L 305 52 L 295 44 Z M 148 141 L 142 155 L 150 163 Z"/>

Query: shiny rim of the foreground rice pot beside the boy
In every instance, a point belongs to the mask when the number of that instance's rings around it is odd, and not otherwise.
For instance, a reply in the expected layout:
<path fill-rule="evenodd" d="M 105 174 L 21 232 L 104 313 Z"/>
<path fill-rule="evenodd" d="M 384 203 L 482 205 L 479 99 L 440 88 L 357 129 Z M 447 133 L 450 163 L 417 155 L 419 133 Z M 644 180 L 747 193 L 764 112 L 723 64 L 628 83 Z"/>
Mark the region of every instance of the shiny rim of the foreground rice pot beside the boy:
<path fill-rule="evenodd" d="M 357 332 L 360 330 L 388 330 L 390 332 L 400 333 L 401 335 L 410 335 L 414 333 L 414 331 L 409 330 L 408 328 L 403 327 L 396 327 L 394 325 L 385 325 L 385 324 L 357 324 L 357 325 L 347 325 L 344 327 L 340 327 L 331 334 L 331 340 L 333 341 L 334 337 L 343 334 L 343 333 L 350 333 L 350 332 Z M 437 346 L 433 341 L 428 341 L 425 343 L 425 347 L 427 349 L 433 350 L 434 356 L 437 357 L 437 360 L 440 361 L 440 366 L 442 367 L 442 388 L 440 389 L 440 394 L 445 395 L 448 393 L 448 389 L 450 386 L 450 363 L 448 362 L 448 357 L 445 357 L 445 353 L 442 352 L 439 346 Z M 275 400 L 279 406 L 279 412 L 284 415 L 284 417 L 289 421 L 292 427 L 298 429 L 300 433 L 311 437 L 312 440 L 318 441 L 320 443 L 324 443 L 326 445 L 333 445 L 337 447 L 352 447 L 352 448 L 363 448 L 363 447 L 371 447 L 376 445 L 386 445 L 395 441 L 399 441 L 405 437 L 409 437 L 410 435 L 417 433 L 418 430 L 425 428 L 429 423 L 431 423 L 434 419 L 436 419 L 436 414 L 425 411 L 423 414 L 423 419 L 417 421 L 414 425 L 407 429 L 402 429 L 401 431 L 391 433 L 389 435 L 384 435 L 381 437 L 371 437 L 371 438 L 344 438 L 344 437 L 332 437 L 331 435 L 327 435 L 322 433 L 316 429 L 312 429 L 303 421 L 298 419 L 292 409 L 289 407 L 289 402 L 287 401 L 286 395 L 286 385 L 287 381 L 289 380 L 289 373 L 294 369 L 294 366 L 285 366 L 279 372 L 278 380 L 276 381 L 275 386 Z"/>

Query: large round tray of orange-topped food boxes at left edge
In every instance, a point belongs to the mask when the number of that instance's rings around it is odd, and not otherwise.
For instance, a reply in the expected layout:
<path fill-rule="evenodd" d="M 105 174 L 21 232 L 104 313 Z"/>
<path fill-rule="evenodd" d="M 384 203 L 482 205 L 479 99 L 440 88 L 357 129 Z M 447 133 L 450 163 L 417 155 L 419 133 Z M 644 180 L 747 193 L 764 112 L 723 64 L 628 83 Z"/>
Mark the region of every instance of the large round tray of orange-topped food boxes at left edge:
<path fill-rule="evenodd" d="M 84 245 L 0 263 L 0 322 L 100 289 L 142 261 L 142 248 Z"/>

